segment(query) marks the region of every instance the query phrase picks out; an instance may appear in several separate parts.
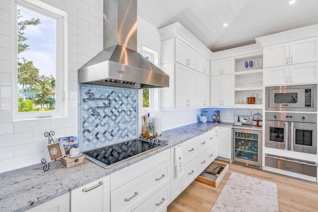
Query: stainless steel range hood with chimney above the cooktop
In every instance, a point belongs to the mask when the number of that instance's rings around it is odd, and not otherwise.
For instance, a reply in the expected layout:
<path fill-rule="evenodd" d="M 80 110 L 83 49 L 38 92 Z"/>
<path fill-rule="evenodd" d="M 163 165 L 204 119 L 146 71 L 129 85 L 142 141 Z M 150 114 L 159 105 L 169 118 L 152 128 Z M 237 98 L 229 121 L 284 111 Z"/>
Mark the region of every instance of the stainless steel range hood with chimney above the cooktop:
<path fill-rule="evenodd" d="M 168 87 L 169 76 L 137 52 L 137 0 L 104 0 L 104 50 L 79 68 L 79 83 Z"/>

